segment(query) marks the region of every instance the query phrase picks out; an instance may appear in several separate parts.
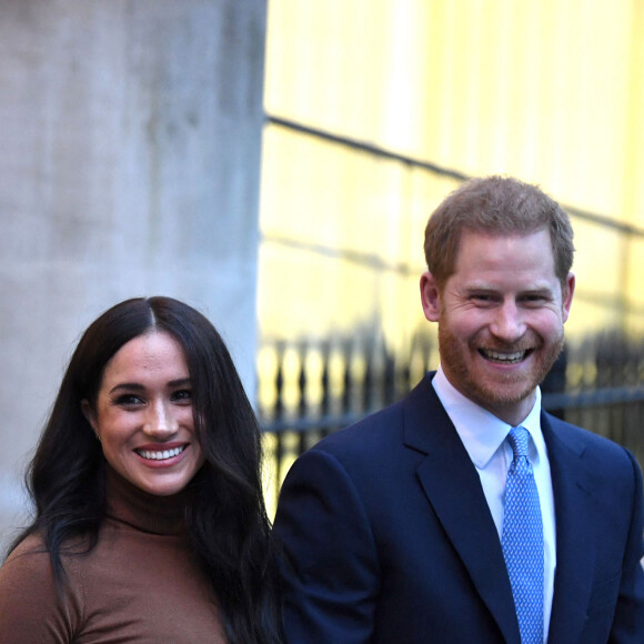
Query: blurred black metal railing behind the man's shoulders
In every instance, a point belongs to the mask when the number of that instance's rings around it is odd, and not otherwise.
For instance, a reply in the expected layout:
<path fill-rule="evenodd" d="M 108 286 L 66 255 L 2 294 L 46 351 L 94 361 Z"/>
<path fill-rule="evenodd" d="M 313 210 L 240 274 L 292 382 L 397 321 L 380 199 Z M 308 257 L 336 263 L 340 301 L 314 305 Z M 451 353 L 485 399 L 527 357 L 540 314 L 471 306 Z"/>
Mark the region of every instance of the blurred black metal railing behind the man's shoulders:
<path fill-rule="evenodd" d="M 435 366 L 435 340 L 419 334 L 409 355 L 378 339 L 264 342 L 272 371 L 260 373 L 260 422 L 274 493 L 292 461 L 323 436 L 402 398 Z M 268 381 L 266 381 L 268 379 Z M 570 343 L 542 384 L 557 416 L 632 450 L 644 463 L 644 342 L 617 333 Z M 266 402 L 268 401 L 268 402 Z"/>

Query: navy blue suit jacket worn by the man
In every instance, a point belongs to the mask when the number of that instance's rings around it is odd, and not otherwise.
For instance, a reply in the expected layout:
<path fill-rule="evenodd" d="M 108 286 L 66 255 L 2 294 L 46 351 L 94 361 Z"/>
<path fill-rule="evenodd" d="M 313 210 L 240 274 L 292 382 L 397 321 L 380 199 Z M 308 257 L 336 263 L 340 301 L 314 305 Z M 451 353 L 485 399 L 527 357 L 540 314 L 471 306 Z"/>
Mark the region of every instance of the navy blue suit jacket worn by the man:
<path fill-rule="evenodd" d="M 282 487 L 290 644 L 520 644 L 479 475 L 433 386 L 320 442 Z M 642 474 L 547 413 L 557 565 L 550 644 L 643 644 Z"/>

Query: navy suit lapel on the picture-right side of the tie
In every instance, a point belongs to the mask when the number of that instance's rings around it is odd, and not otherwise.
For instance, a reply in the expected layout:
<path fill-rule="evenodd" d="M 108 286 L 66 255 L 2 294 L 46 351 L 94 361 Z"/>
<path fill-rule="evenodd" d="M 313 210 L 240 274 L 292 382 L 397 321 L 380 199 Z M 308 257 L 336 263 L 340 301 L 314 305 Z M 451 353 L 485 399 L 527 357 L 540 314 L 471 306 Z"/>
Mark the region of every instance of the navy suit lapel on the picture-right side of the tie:
<path fill-rule="evenodd" d="M 556 572 L 550 644 L 578 642 L 586 616 L 596 553 L 591 476 L 584 446 L 560 431 L 560 421 L 542 413 L 556 517 Z"/>

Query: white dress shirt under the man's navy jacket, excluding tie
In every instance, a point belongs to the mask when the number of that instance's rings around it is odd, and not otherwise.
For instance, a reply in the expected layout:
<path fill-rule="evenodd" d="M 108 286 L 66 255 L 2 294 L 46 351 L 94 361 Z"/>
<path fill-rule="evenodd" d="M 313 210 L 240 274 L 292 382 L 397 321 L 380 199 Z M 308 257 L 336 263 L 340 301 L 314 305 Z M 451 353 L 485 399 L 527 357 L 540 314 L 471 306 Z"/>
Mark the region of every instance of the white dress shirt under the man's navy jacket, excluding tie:
<path fill-rule="evenodd" d="M 432 384 L 481 477 L 483 493 L 496 525 L 499 540 L 501 540 L 505 511 L 505 479 L 513 459 L 512 447 L 505 439 L 512 427 L 456 391 L 447 381 L 441 368 L 439 368 L 432 380 Z M 556 567 L 556 526 L 550 462 L 545 441 L 541 432 L 540 416 L 541 390 L 537 386 L 534 406 L 527 417 L 521 423 L 521 426 L 529 431 L 532 439 L 529 441 L 527 450 L 539 491 L 543 521 L 543 637 L 544 642 L 546 642 Z"/>

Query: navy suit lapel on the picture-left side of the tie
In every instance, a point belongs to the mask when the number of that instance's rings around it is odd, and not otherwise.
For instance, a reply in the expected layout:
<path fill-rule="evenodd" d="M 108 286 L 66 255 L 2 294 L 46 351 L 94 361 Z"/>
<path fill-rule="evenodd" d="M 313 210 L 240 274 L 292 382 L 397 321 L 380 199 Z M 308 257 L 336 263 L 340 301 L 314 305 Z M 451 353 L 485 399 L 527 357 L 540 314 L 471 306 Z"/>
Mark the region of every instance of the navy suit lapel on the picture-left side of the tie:
<path fill-rule="evenodd" d="M 431 375 L 405 401 L 404 442 L 426 454 L 416 471 L 425 495 L 505 641 L 520 644 L 505 561 L 481 480 Z"/>

